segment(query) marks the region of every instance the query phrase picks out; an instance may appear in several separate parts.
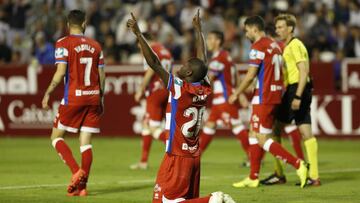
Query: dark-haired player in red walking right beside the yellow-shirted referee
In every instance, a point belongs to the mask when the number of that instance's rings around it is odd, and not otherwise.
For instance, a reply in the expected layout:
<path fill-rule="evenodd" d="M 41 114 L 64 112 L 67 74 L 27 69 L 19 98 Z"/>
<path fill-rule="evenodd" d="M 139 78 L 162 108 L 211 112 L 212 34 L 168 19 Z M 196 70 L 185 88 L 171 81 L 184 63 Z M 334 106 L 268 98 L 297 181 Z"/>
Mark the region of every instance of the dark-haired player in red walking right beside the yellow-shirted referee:
<path fill-rule="evenodd" d="M 272 134 L 276 107 L 281 102 L 283 79 L 281 74 L 281 48 L 266 37 L 265 23 L 260 16 L 245 20 L 245 35 L 252 42 L 249 54 L 249 67 L 245 78 L 230 96 L 233 103 L 256 78 L 257 84 L 252 98 L 251 129 L 249 134 L 250 175 L 234 187 L 258 187 L 260 163 L 264 150 L 291 164 L 300 178 L 301 188 L 305 186 L 307 166 L 299 158 L 286 151 L 279 143 L 270 138 Z"/>

